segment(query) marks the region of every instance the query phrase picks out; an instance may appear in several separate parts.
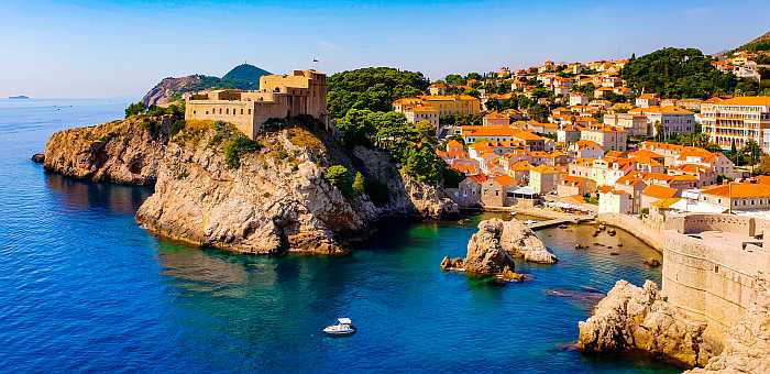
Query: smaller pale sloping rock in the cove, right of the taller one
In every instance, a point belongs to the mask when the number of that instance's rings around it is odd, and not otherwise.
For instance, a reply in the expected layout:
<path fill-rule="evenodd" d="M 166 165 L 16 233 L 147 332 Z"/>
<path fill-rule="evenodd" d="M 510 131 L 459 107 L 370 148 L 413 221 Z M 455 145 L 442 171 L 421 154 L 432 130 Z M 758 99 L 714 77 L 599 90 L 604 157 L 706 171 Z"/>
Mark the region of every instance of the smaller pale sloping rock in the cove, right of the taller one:
<path fill-rule="evenodd" d="M 557 256 L 548 252 L 546 244 L 524 222 L 512 219 L 503 221 L 501 245 L 514 257 L 540 264 L 553 264 Z"/>

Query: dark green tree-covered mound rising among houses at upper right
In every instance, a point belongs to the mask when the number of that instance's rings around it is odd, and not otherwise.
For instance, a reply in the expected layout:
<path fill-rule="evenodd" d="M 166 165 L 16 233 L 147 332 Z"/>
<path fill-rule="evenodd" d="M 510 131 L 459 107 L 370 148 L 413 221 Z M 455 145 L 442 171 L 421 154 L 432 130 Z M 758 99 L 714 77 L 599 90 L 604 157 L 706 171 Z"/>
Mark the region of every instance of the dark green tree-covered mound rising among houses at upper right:
<path fill-rule="evenodd" d="M 695 48 L 662 48 L 631 58 L 623 78 L 637 92 L 654 92 L 664 98 L 708 98 L 732 94 L 737 79 L 712 66 L 712 58 Z"/>

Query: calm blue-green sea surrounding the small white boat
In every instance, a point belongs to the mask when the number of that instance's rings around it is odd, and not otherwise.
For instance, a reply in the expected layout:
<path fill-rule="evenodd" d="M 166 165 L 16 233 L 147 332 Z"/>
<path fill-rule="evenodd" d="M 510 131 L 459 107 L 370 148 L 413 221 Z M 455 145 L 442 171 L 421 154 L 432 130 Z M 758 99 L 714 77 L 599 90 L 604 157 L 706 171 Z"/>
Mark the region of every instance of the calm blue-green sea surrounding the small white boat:
<path fill-rule="evenodd" d="M 561 258 L 497 285 L 442 273 L 468 224 L 387 224 L 355 254 L 252 257 L 158 241 L 133 215 L 150 189 L 45 175 L 30 155 L 56 130 L 120 118 L 121 101 L 0 100 L 0 371 L 657 372 L 645 358 L 569 348 L 619 278 L 660 272 L 634 238 L 539 233 Z M 58 108 L 58 109 L 57 109 Z M 556 294 L 557 296 L 554 296 Z M 360 332 L 319 333 L 337 317 Z"/>

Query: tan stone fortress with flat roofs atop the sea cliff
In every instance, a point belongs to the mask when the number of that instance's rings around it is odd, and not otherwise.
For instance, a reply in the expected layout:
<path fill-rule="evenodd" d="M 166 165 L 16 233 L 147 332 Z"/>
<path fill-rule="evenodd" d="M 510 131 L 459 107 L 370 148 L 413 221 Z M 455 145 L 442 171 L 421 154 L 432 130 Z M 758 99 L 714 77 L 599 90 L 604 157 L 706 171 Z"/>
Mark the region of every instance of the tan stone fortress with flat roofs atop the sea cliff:
<path fill-rule="evenodd" d="M 327 122 L 327 76 L 316 70 L 265 75 L 260 89 L 216 89 L 185 95 L 185 120 L 224 121 L 254 139 L 270 119 L 308 114 Z"/>

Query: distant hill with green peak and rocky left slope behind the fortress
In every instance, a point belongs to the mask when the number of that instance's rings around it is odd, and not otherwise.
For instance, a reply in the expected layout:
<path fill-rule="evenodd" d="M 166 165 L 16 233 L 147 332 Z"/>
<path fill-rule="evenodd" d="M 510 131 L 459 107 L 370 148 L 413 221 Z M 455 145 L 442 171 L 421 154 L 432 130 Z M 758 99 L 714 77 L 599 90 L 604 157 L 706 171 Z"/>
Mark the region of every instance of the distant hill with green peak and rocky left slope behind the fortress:
<path fill-rule="evenodd" d="M 142 98 L 145 106 L 162 106 L 182 99 L 185 92 L 209 88 L 258 89 L 260 77 L 270 74 L 254 65 L 242 64 L 232 68 L 224 77 L 188 75 L 164 78 Z"/>

